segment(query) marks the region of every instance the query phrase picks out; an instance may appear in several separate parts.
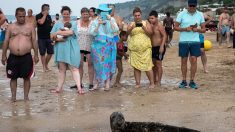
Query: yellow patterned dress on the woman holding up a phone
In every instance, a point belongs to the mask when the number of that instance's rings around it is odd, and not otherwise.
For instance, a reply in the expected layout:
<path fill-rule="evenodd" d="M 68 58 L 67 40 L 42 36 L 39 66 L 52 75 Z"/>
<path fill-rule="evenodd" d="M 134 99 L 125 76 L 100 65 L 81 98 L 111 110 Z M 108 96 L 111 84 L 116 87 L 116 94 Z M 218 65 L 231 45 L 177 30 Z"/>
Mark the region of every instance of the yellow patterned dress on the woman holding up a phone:
<path fill-rule="evenodd" d="M 133 24 L 133 23 L 132 23 Z M 146 26 L 146 21 L 143 21 Z M 150 38 L 141 27 L 135 27 L 128 39 L 128 50 L 130 53 L 130 64 L 140 71 L 152 70 L 152 45 Z"/>

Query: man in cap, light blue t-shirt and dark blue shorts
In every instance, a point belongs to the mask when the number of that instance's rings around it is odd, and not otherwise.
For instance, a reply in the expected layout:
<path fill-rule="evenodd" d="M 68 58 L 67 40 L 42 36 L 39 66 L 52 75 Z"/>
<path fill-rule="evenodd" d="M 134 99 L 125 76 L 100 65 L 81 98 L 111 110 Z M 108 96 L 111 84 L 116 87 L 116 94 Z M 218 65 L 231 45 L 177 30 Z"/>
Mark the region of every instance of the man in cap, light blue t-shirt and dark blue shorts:
<path fill-rule="evenodd" d="M 180 32 L 179 56 L 181 57 L 181 72 L 183 76 L 179 88 L 186 88 L 187 61 L 190 60 L 190 83 L 189 87 L 197 89 L 194 82 L 197 71 L 197 57 L 201 55 L 199 33 L 206 31 L 203 13 L 197 11 L 197 0 L 188 0 L 188 9 L 179 13 L 175 22 L 175 30 Z M 198 27 L 201 28 L 198 28 Z M 189 57 L 188 57 L 189 56 Z"/>

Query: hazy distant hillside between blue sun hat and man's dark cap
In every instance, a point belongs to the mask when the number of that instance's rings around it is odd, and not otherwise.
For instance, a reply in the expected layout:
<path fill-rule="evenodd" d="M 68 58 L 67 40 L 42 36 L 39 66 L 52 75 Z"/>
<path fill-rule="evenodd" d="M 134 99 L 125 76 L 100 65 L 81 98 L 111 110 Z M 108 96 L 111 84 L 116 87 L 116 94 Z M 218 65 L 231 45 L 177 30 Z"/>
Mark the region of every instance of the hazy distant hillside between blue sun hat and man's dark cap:
<path fill-rule="evenodd" d="M 117 3 L 116 10 L 117 14 L 122 16 L 127 21 L 132 21 L 132 11 L 135 7 L 140 7 L 142 10 L 142 16 L 144 19 L 147 18 L 151 10 L 163 11 L 167 7 L 185 7 L 187 5 L 187 0 L 136 0 L 125 3 Z M 161 12 L 165 13 L 165 12 Z M 172 10 L 173 14 L 176 12 Z"/>

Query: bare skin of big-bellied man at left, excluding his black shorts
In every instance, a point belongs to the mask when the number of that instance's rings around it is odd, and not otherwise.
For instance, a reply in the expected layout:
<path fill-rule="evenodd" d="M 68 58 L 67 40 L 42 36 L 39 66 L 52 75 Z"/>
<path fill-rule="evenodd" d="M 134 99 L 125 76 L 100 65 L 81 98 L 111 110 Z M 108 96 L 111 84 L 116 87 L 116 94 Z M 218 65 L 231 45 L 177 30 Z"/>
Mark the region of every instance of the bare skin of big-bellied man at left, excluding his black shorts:
<path fill-rule="evenodd" d="M 34 62 L 38 62 L 38 46 L 36 44 L 36 32 L 31 24 L 25 22 L 25 12 L 16 12 L 16 23 L 9 25 L 5 41 L 2 48 L 2 64 L 7 61 L 7 49 L 10 53 L 16 56 L 23 56 L 34 50 Z M 23 30 L 22 30 L 23 29 Z M 29 100 L 28 94 L 30 90 L 30 78 L 24 79 L 24 100 Z M 10 81 L 11 93 L 13 102 L 16 101 L 17 79 Z"/>

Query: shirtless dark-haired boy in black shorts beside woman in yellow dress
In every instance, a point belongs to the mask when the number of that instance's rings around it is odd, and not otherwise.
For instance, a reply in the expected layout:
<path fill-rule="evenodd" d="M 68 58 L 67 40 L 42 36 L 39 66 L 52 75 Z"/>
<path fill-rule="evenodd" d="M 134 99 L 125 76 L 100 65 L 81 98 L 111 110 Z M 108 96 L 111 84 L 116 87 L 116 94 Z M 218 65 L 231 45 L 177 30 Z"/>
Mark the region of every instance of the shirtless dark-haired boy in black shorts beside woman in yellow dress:
<path fill-rule="evenodd" d="M 156 11 L 151 11 L 149 14 L 149 21 L 152 25 L 153 35 L 151 38 L 152 41 L 152 58 L 153 58 L 153 75 L 154 83 L 157 86 L 161 85 L 162 79 L 162 60 L 166 52 L 166 32 L 161 24 L 158 21 L 158 13 Z"/>

